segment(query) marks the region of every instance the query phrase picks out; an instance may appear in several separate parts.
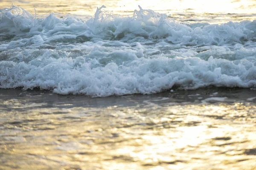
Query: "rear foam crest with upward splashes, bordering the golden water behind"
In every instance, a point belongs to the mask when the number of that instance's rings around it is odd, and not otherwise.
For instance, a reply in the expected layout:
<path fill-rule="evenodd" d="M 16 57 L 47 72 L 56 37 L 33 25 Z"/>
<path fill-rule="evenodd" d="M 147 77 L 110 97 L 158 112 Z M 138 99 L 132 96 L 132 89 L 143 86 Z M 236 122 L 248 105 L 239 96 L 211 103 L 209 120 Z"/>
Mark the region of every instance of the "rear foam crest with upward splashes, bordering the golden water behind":
<path fill-rule="evenodd" d="M 95 17 L 87 21 L 74 17 L 59 19 L 52 13 L 33 22 L 35 19 L 32 14 L 23 8 L 12 6 L 1 10 L 0 29 L 5 30 L 4 32 L 29 31 L 27 35 L 40 34 L 41 37 L 72 34 L 85 39 L 122 41 L 144 37 L 149 40 L 165 39 L 172 44 L 183 45 L 233 45 L 255 39 L 255 21 L 190 27 L 176 23 L 175 20 L 167 18 L 166 14 L 141 7 L 140 11 L 134 11 L 133 17 L 113 15 L 108 11 L 102 11 L 103 8 L 105 6 L 97 8 Z M 61 38 L 63 37 L 60 36 Z"/>

